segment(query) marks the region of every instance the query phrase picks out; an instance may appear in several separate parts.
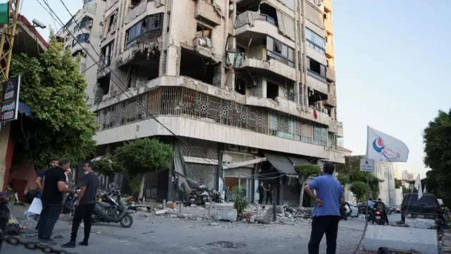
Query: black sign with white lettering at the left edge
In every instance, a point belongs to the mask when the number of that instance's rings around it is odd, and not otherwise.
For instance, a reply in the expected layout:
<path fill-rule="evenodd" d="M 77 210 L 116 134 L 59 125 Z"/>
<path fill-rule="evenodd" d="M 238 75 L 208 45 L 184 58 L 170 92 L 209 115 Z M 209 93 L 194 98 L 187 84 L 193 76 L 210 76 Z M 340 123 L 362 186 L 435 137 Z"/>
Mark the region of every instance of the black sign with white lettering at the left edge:
<path fill-rule="evenodd" d="M 3 93 L 1 94 L 1 123 L 17 119 L 19 112 L 19 90 L 20 76 L 10 78 L 3 83 Z"/>

